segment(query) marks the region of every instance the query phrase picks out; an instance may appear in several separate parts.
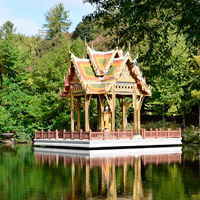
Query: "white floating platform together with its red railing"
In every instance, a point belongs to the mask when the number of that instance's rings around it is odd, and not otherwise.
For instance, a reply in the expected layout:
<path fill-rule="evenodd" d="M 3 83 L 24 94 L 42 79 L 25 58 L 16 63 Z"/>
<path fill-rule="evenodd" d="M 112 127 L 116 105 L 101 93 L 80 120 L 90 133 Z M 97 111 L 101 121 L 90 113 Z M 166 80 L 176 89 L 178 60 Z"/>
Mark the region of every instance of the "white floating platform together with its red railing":
<path fill-rule="evenodd" d="M 181 145 L 181 129 L 146 131 L 134 134 L 133 130 L 111 132 L 68 132 L 66 130 L 35 131 L 34 146 L 63 148 L 127 148 Z"/>

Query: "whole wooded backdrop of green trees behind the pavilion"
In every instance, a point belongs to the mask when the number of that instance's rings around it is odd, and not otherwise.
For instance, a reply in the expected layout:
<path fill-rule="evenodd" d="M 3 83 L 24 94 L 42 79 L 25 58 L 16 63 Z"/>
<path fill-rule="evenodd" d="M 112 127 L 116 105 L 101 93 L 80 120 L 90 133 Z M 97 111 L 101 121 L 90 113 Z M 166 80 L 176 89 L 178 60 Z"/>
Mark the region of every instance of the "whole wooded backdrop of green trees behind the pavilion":
<path fill-rule="evenodd" d="M 138 56 L 152 86 L 152 97 L 145 99 L 142 110 L 144 126 L 200 126 L 200 2 L 85 2 L 95 5 L 96 11 L 72 33 L 62 4 L 45 14 L 44 30 L 38 35 L 18 34 L 10 21 L 0 28 L 0 134 L 15 132 L 26 140 L 35 129 L 70 129 L 70 102 L 60 98 L 60 89 L 70 52 L 86 57 L 85 41 L 95 50 L 122 48 L 132 58 Z M 95 128 L 95 101 L 90 110 Z M 127 118 L 131 126 L 132 109 Z"/>

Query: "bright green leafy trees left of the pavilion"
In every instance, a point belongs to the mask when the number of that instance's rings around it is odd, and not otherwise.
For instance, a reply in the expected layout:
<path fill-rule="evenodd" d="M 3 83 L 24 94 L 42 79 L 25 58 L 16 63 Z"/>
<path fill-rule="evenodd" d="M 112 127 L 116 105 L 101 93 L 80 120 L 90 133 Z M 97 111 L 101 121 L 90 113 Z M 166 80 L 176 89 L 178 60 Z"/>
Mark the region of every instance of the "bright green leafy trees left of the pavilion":
<path fill-rule="evenodd" d="M 17 73 L 4 76 L 0 133 L 15 132 L 16 140 L 23 142 L 30 140 L 35 129 L 69 129 L 70 105 L 59 97 L 59 89 L 70 63 L 69 46 L 74 53 L 82 54 L 84 42 L 71 42 L 61 33 L 51 40 L 15 35 L 14 40 L 1 42 L 15 50 L 8 56 Z M 1 51 L 6 54 L 3 48 Z"/>

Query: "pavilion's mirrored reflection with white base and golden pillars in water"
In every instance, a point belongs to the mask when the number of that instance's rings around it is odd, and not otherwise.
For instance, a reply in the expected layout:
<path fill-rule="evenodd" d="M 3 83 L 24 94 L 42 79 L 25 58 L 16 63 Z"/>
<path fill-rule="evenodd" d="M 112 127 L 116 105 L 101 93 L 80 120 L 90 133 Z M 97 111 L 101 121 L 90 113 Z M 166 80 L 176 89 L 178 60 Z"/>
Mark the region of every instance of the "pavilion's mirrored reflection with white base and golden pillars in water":
<path fill-rule="evenodd" d="M 82 199 L 152 199 L 152 189 L 143 185 L 144 169 L 148 165 L 181 164 L 181 160 L 181 147 L 106 151 L 35 148 L 36 165 L 70 166 L 72 199 L 80 198 L 79 190 Z"/>

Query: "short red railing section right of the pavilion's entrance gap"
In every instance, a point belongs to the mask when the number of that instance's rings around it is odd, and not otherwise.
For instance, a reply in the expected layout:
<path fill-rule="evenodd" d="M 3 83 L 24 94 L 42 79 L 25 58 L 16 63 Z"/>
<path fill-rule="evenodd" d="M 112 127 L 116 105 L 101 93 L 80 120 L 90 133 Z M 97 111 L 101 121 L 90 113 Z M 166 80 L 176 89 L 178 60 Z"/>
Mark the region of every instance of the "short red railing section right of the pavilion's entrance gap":
<path fill-rule="evenodd" d="M 171 130 L 168 128 L 167 130 L 155 129 L 150 131 L 146 131 L 145 129 L 141 130 L 141 136 L 144 139 L 147 138 L 181 138 L 181 128 L 178 130 Z"/>

